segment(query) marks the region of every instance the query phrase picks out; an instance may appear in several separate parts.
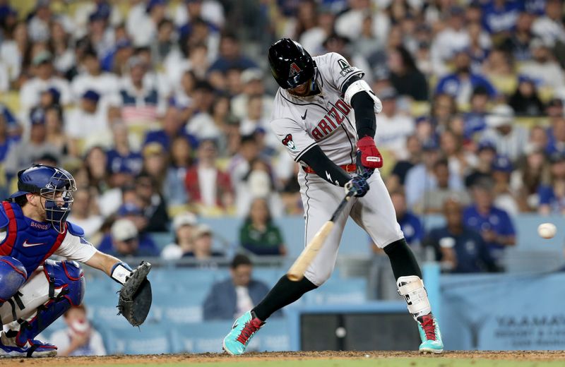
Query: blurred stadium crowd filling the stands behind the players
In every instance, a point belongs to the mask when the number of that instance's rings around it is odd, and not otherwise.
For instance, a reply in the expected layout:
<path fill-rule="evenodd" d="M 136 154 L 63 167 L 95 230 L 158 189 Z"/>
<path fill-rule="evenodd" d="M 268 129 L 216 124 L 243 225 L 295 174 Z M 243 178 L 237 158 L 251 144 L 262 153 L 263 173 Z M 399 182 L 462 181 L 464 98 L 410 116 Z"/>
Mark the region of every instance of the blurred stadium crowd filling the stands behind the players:
<path fill-rule="evenodd" d="M 365 71 L 398 220 L 447 270 L 500 269 L 512 215 L 565 212 L 560 0 L 0 0 L 0 25 L 0 193 L 64 166 L 69 219 L 109 253 L 220 256 L 198 216 L 231 215 L 246 251 L 285 254 L 273 218 L 302 201 L 268 126 L 279 37 Z"/>

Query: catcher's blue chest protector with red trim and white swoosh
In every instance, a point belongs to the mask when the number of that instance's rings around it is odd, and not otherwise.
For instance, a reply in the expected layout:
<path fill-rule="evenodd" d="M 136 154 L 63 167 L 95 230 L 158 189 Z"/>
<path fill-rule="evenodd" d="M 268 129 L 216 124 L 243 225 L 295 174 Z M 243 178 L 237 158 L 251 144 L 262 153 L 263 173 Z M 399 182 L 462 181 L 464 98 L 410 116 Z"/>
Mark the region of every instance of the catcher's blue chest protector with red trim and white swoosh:
<path fill-rule="evenodd" d="M 0 207 L 0 227 L 6 228 L 6 238 L 0 243 L 0 255 L 20 260 L 28 274 L 32 274 L 57 251 L 66 236 L 66 224 L 60 234 L 51 224 L 25 217 L 20 205 L 7 201 L 3 201 Z"/>

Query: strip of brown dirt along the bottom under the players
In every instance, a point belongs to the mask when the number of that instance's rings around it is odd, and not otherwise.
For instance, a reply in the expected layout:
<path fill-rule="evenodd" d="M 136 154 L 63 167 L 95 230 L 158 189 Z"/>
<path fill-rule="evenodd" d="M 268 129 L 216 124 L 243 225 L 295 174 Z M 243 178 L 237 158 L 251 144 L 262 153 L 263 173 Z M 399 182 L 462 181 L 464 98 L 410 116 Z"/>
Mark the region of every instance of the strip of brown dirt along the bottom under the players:
<path fill-rule="evenodd" d="M 244 356 L 227 354 L 160 354 L 142 356 L 57 357 L 56 359 L 0 359 L 0 366 L 105 366 L 112 364 L 206 363 L 221 361 L 270 361 L 310 359 L 416 358 L 415 351 L 297 351 L 249 353 Z M 501 359 L 510 361 L 564 361 L 565 351 L 446 351 L 445 359 Z"/>

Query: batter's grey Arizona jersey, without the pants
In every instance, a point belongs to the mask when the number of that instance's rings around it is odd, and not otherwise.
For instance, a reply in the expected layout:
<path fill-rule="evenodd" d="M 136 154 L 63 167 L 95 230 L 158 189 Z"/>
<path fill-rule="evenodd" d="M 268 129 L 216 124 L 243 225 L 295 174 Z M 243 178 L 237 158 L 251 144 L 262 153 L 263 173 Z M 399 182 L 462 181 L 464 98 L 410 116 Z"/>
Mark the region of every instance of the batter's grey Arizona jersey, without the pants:
<path fill-rule="evenodd" d="M 357 130 L 351 106 L 342 98 L 341 88 L 352 76 L 363 76 L 340 54 L 315 56 L 318 66 L 318 95 L 296 97 L 279 88 L 275 96 L 273 131 L 295 161 L 314 145 L 335 164 L 355 163 Z"/>

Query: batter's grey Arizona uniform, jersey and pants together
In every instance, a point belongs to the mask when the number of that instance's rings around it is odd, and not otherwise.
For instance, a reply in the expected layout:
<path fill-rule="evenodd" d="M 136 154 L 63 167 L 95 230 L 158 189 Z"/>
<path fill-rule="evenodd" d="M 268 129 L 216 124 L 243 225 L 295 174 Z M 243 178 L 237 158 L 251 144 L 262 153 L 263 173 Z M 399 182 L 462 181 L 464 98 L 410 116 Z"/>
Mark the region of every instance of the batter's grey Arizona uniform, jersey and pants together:
<path fill-rule="evenodd" d="M 314 57 L 318 66 L 316 83 L 319 95 L 295 97 L 279 88 L 275 96 L 271 127 L 288 152 L 299 162 L 315 145 L 335 164 L 354 164 L 357 152 L 357 129 L 351 106 L 342 99 L 341 88 L 352 76 L 363 72 L 350 66 L 340 54 Z M 304 164 L 301 162 L 301 164 Z M 305 243 L 328 221 L 345 196 L 343 188 L 332 185 L 317 174 L 300 170 L 300 194 L 304 205 Z M 335 220 L 335 225 L 319 253 L 305 272 L 310 282 L 320 286 L 330 277 L 338 255 L 343 227 L 349 217 L 355 220 L 377 246 L 383 248 L 403 238 L 396 214 L 379 170 L 367 180 L 369 191 L 362 198 L 352 198 Z"/>

